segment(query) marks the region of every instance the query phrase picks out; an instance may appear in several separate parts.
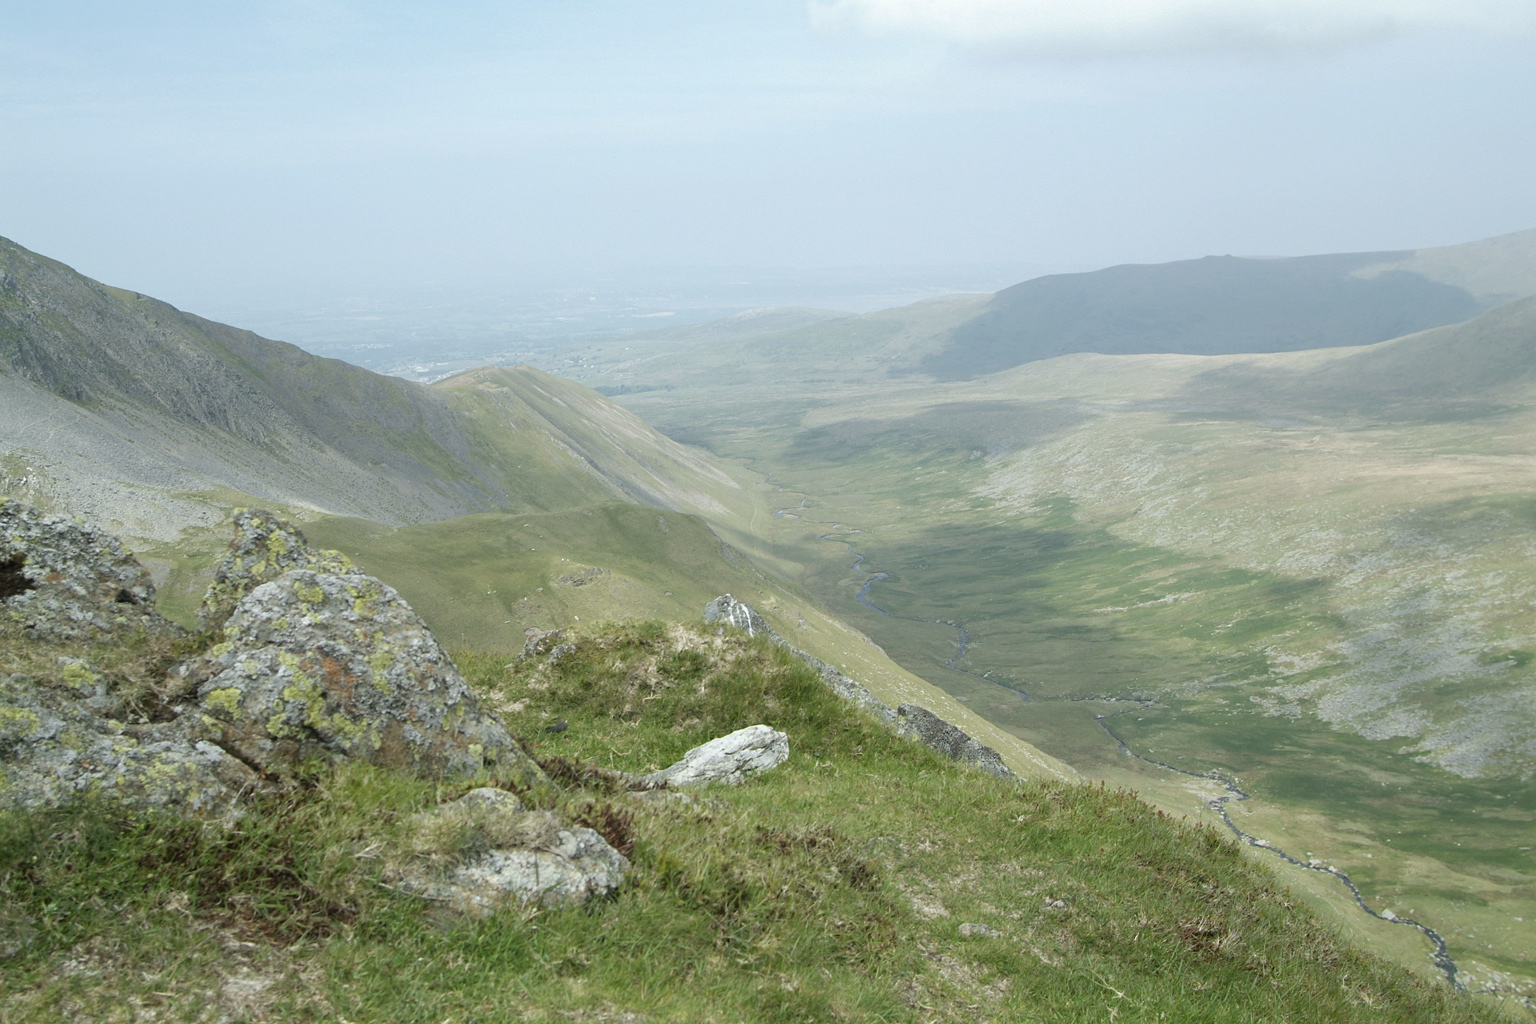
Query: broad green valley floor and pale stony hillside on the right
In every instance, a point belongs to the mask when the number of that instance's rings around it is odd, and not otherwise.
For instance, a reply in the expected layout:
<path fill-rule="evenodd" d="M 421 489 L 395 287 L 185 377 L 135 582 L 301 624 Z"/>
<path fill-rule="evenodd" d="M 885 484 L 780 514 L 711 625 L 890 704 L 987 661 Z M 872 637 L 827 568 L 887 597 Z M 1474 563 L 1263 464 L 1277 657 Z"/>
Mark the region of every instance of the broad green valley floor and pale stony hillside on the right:
<path fill-rule="evenodd" d="M 800 583 L 911 671 L 1169 809 L 1221 789 L 1127 758 L 1107 715 L 1137 754 L 1240 778 L 1247 831 L 1528 995 L 1530 310 L 1367 348 L 846 384 L 794 418 L 751 419 L 743 388 L 624 401 L 771 473 Z"/>

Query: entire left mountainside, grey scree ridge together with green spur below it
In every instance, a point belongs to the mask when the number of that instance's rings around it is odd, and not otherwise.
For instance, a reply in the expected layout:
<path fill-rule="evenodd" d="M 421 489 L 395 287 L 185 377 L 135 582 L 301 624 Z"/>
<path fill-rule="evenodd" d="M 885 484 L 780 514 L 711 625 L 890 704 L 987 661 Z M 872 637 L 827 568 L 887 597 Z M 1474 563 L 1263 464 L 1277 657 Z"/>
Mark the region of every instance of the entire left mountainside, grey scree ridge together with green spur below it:
<path fill-rule="evenodd" d="M 579 384 L 531 367 L 413 384 L 11 243 L 0 267 L 0 494 L 158 540 L 144 554 L 169 614 L 189 619 L 229 507 L 260 499 L 379 574 L 407 576 L 401 588 L 456 643 L 516 651 L 525 626 L 582 616 L 691 619 L 734 590 L 892 705 L 934 709 L 1020 772 L 1071 775 L 733 548 L 773 520 L 751 473 Z"/>

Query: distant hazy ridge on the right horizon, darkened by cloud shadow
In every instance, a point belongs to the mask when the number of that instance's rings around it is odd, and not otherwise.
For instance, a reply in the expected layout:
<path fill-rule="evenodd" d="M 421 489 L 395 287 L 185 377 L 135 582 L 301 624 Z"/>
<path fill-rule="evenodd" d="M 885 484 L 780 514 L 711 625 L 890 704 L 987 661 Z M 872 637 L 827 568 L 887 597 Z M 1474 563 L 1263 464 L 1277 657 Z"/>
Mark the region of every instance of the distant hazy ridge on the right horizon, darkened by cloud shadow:
<path fill-rule="evenodd" d="M 1536 230 L 1436 249 L 1124 264 L 863 315 L 754 310 L 593 344 L 561 367 L 616 396 L 975 379 L 1074 353 L 1243 355 L 1370 345 L 1536 295 Z M 708 344 L 700 344 L 708 341 Z M 648 399 L 625 401 L 648 408 Z"/>

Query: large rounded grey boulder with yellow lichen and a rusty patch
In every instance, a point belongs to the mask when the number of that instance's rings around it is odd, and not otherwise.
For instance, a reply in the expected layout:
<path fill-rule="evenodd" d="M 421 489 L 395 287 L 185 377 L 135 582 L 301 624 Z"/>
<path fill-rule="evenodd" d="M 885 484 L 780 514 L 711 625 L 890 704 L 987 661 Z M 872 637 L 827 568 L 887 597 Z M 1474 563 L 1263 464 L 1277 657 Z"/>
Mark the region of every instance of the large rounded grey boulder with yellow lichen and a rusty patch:
<path fill-rule="evenodd" d="M 361 758 L 424 775 L 542 778 L 425 623 L 372 576 L 295 570 L 257 586 L 200 677 L 201 722 L 264 772 Z"/>

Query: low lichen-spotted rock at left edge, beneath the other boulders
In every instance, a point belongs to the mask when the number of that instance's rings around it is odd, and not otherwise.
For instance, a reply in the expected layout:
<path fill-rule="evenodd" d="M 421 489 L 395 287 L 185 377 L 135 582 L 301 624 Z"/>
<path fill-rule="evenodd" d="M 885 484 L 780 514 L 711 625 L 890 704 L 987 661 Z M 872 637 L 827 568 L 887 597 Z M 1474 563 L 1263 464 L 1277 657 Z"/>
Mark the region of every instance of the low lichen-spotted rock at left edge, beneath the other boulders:
<path fill-rule="evenodd" d="M 0 808 L 97 798 L 138 809 L 221 815 L 260 785 L 184 720 L 124 725 L 95 708 L 111 697 L 88 674 L 51 686 L 0 677 Z"/>

